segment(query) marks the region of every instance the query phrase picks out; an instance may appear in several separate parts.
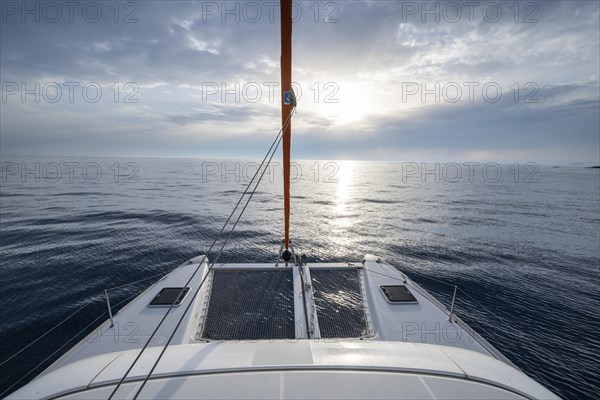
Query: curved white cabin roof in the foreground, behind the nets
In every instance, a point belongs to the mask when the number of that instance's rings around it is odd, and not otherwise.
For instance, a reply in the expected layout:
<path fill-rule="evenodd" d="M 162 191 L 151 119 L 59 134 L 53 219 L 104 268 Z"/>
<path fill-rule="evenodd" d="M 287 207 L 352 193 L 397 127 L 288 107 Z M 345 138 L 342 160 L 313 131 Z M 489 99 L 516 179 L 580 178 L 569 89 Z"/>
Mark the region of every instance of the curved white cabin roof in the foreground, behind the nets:
<path fill-rule="evenodd" d="M 144 353 L 116 398 L 131 398 L 159 353 Z M 13 399 L 106 399 L 137 351 L 105 354 L 50 372 Z M 140 399 L 556 398 L 493 358 L 399 342 L 211 342 L 170 347 Z"/>

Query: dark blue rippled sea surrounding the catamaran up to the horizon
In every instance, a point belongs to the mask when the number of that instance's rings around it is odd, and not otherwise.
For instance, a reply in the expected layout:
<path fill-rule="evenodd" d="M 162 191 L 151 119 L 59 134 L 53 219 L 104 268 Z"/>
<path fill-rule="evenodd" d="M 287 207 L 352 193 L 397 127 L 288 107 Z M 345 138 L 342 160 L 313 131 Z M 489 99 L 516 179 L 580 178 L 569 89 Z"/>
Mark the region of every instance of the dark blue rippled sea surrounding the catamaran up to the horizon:
<path fill-rule="evenodd" d="M 36 368 L 11 391 L 33 378 L 104 321 L 104 289 L 206 251 L 255 166 L 3 157 L 0 362 L 91 304 L 2 364 L 0 392 Z M 265 175 L 221 261 L 275 260 L 279 171 Z M 456 284 L 459 316 L 528 375 L 564 398 L 600 398 L 600 170 L 427 171 L 413 163 L 296 164 L 296 250 L 313 262 L 380 255 L 446 305 Z M 112 291 L 112 304 L 121 307 L 151 282 Z"/>

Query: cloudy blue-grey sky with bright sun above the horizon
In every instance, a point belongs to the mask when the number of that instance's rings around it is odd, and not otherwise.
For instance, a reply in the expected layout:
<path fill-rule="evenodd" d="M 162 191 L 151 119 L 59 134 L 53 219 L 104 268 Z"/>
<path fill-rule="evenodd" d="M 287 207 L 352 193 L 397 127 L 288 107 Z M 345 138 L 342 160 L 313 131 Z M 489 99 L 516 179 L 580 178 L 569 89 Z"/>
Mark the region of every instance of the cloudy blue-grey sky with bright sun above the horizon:
<path fill-rule="evenodd" d="M 598 1 L 294 2 L 296 159 L 600 164 Z M 274 1 L 1 1 L 3 155 L 262 158 Z"/>

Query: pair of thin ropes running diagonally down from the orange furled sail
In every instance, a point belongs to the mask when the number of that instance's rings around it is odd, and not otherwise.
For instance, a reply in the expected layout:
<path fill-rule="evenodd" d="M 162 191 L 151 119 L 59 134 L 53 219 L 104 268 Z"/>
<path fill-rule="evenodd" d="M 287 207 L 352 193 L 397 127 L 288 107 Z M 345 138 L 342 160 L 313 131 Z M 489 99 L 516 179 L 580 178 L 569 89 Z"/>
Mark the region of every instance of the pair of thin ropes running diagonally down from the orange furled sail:
<path fill-rule="evenodd" d="M 246 186 L 246 189 L 244 190 L 244 192 L 242 193 L 242 195 L 240 196 L 240 199 L 238 200 L 237 204 L 235 205 L 235 207 L 233 208 L 232 212 L 229 214 L 229 217 L 227 218 L 227 220 L 225 221 L 225 224 L 223 224 L 223 227 L 221 228 L 221 230 L 219 231 L 219 233 L 217 234 L 217 237 L 215 238 L 215 240 L 212 242 L 212 244 L 210 245 L 208 251 L 206 252 L 206 254 L 204 255 L 204 257 L 202 258 L 202 261 L 198 264 L 198 267 L 196 267 L 194 273 L 192 274 L 192 276 L 188 279 L 187 283 L 183 286 L 183 288 L 181 289 L 181 292 L 179 293 L 179 296 L 181 296 L 181 294 L 183 293 L 183 290 L 185 287 L 187 287 L 190 282 L 192 281 L 192 279 L 194 278 L 194 276 L 196 276 L 196 273 L 198 273 L 198 271 L 200 270 L 202 264 L 204 264 L 206 258 L 207 258 L 207 254 L 210 253 L 210 251 L 212 250 L 212 248 L 215 246 L 215 244 L 217 243 L 217 241 L 220 239 L 221 234 L 223 233 L 223 231 L 225 230 L 225 228 L 227 227 L 227 225 L 229 224 L 229 221 L 231 221 L 231 218 L 233 217 L 233 215 L 235 214 L 238 206 L 240 205 L 240 203 L 242 202 L 242 200 L 244 199 L 244 196 L 246 196 L 246 194 L 248 193 L 248 189 L 250 189 L 250 187 L 252 186 L 252 183 L 254 182 L 254 179 L 256 179 L 256 177 L 258 176 L 258 173 L 261 171 L 266 159 L 269 157 L 269 154 L 271 154 L 269 161 L 267 162 L 267 168 L 271 162 L 271 160 L 273 159 L 273 155 L 275 154 L 275 150 L 277 150 L 277 147 L 279 146 L 279 143 L 281 142 L 282 139 L 282 133 L 284 132 L 285 128 L 289 125 L 290 120 L 292 118 L 292 115 L 294 114 L 295 111 L 295 107 L 292 109 L 292 111 L 290 112 L 290 115 L 288 116 L 285 124 L 283 124 L 283 126 L 281 127 L 281 129 L 279 130 L 279 133 L 277 134 L 277 136 L 275 137 L 275 140 L 273 140 L 273 143 L 271 143 L 271 146 L 269 147 L 269 150 L 267 151 L 267 154 L 265 155 L 265 157 L 263 158 L 262 162 L 260 163 L 259 167 L 256 169 L 256 172 L 254 174 L 254 176 L 252 177 L 252 179 L 250 180 L 250 182 L 248 183 L 248 185 Z M 275 146 L 275 149 L 273 149 L 273 146 Z M 254 195 L 256 188 L 258 187 L 258 184 L 260 183 L 260 180 L 262 180 L 262 177 L 265 174 L 265 171 L 267 170 L 267 168 L 265 168 L 259 178 L 259 180 L 257 181 L 252 193 L 250 194 L 249 199 L 246 201 L 246 204 L 244 206 L 244 208 L 242 209 L 241 213 L 239 214 L 236 222 L 234 223 L 231 231 L 229 232 L 225 243 L 223 244 L 223 246 L 221 246 L 221 249 L 219 251 L 219 254 L 217 255 L 216 260 L 218 260 L 218 258 L 220 257 L 223 248 L 225 247 L 225 244 L 227 243 L 227 241 L 229 240 L 229 237 L 231 236 L 231 233 L 233 232 L 233 229 L 235 229 L 237 223 L 239 222 L 240 218 L 242 217 L 244 211 L 246 210 L 246 207 L 248 206 L 249 201 L 252 199 L 252 196 Z M 185 315 L 187 314 L 187 311 L 189 310 L 190 305 L 192 304 L 193 299 L 196 297 L 196 295 L 198 294 L 200 288 L 202 287 L 202 285 L 204 284 L 204 282 L 206 281 L 206 278 L 208 277 L 208 272 L 210 272 L 210 270 L 214 267 L 215 261 L 212 262 L 211 266 L 209 266 L 207 273 L 205 274 L 204 278 L 202 279 L 202 282 L 200 283 L 200 285 L 198 286 L 198 289 L 196 290 L 196 293 L 194 293 L 194 296 L 192 297 L 192 299 L 190 300 L 188 307 L 185 309 L 185 311 L 183 312 L 181 319 L 179 320 L 179 323 L 177 324 L 177 327 L 179 327 L 179 324 L 181 323 L 181 321 L 183 320 L 183 318 L 185 317 Z M 179 297 L 177 296 L 177 298 Z M 171 310 L 173 309 L 173 306 L 175 305 L 175 303 L 171 304 L 171 306 L 169 307 L 169 309 L 167 310 L 167 312 L 165 313 L 165 315 L 163 316 L 163 318 L 160 320 L 160 322 L 158 323 L 157 327 L 154 329 L 154 331 L 152 332 L 152 334 L 150 335 L 150 337 L 148 338 L 148 340 L 146 341 L 146 343 L 144 344 L 144 346 L 142 347 L 142 349 L 140 350 L 140 352 L 138 353 L 138 355 L 136 356 L 136 358 L 133 360 L 133 363 L 129 366 L 129 368 L 127 369 L 127 371 L 125 372 L 125 374 L 123 375 L 123 377 L 120 379 L 119 383 L 116 385 L 115 389 L 112 391 L 112 393 L 110 394 L 110 396 L 108 397 L 108 400 L 111 400 L 113 398 L 113 396 L 116 394 L 116 392 L 119 390 L 119 388 L 121 387 L 121 385 L 123 384 L 123 382 L 125 381 L 125 379 L 127 378 L 127 376 L 129 375 L 129 373 L 131 372 L 131 370 L 133 369 L 133 367 L 135 366 L 135 364 L 138 362 L 138 360 L 140 359 L 140 357 L 142 356 L 142 354 L 144 353 L 144 351 L 146 350 L 146 348 L 148 347 L 148 345 L 150 344 L 150 341 L 154 338 L 154 336 L 156 335 L 156 333 L 158 332 L 158 329 L 162 326 L 162 324 L 164 323 L 164 321 L 166 320 L 167 316 L 169 315 L 169 313 L 171 312 Z M 139 392 L 141 391 L 141 389 L 144 387 L 146 381 L 148 380 L 148 378 L 150 377 L 150 374 L 152 373 L 152 371 L 154 370 L 154 368 L 156 367 L 156 365 L 158 364 L 158 361 L 160 361 L 160 358 L 162 357 L 162 354 L 164 353 L 165 349 L 167 348 L 169 342 L 171 341 L 171 339 L 173 338 L 177 327 L 173 330 L 173 333 L 171 334 L 171 337 L 169 338 L 169 341 L 167 342 L 167 345 L 163 348 L 163 351 L 161 352 L 158 360 L 156 361 L 156 363 L 154 364 L 154 366 L 152 367 L 152 370 L 150 371 L 150 373 L 148 374 L 148 376 L 146 377 L 146 379 L 144 380 L 144 383 L 142 384 L 142 387 L 138 390 L 138 393 L 136 393 L 135 398 L 137 398 L 137 395 L 139 394 Z"/>

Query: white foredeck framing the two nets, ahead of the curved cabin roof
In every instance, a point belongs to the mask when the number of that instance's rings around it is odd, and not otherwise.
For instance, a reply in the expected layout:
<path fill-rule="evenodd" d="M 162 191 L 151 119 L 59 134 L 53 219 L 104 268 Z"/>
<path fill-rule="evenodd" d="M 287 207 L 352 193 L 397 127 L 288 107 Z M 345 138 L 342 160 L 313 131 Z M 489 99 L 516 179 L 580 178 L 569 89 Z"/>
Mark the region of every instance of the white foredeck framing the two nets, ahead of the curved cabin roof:
<path fill-rule="evenodd" d="M 204 263 L 199 266 L 197 263 L 200 260 L 201 257 L 197 257 L 191 263 L 175 269 L 169 275 L 152 285 L 115 315 L 115 325 L 113 327 L 110 327 L 110 323 L 106 321 L 90 336 L 76 345 L 69 353 L 59 359 L 51 369 L 93 355 L 141 348 L 168 309 L 168 307 L 148 307 L 151 300 L 163 288 L 182 287 L 194 271 L 200 267 L 189 284 L 190 291 L 183 303 L 173 308 L 167 320 L 151 342 L 151 346 L 164 345 L 173 326 L 183 315 L 187 302 L 191 301 L 193 293 L 198 289 L 204 275 L 207 274 L 208 265 Z M 453 321 L 449 321 L 448 310 L 440 305 L 424 289 L 412 282 L 395 267 L 384 262 L 378 262 L 378 260 L 377 257 L 367 255 L 364 263 L 309 264 L 304 268 L 298 266 L 285 267 L 283 264 L 277 267 L 274 264 L 217 264 L 210 272 L 206 283 L 193 299 L 194 304 L 185 315 L 171 344 L 188 344 L 210 340 L 209 337 L 206 337 L 205 333 L 206 325 L 208 324 L 207 318 L 211 316 L 211 295 L 215 295 L 212 293 L 213 277 L 215 274 L 222 274 L 225 271 L 265 271 L 267 275 L 269 271 L 273 271 L 273 273 L 279 275 L 289 274 L 289 280 L 291 281 L 289 290 L 293 291 L 293 293 L 289 293 L 289 297 L 293 301 L 292 318 L 295 325 L 294 332 L 292 333 L 292 337 L 265 337 L 265 339 L 332 338 L 332 335 L 321 335 L 319 313 L 321 312 L 324 317 L 328 310 L 323 309 L 320 311 L 318 309 L 320 288 L 319 281 L 315 282 L 314 280 L 323 271 L 331 271 L 332 274 L 337 271 L 340 273 L 340 278 L 342 274 L 350 271 L 356 273 L 357 281 L 360 285 L 359 290 L 363 302 L 362 309 L 365 313 L 365 326 L 357 327 L 356 329 L 357 331 L 363 331 L 362 334 L 351 336 L 342 334 L 338 337 L 362 337 L 365 340 L 441 344 L 478 351 L 505 362 L 507 361 L 500 352 L 469 329 L 468 326 L 460 321 L 457 322 L 456 317 L 453 317 Z M 311 273 L 315 277 L 311 277 Z M 304 287 L 302 285 L 303 281 Z M 251 281 L 250 283 L 260 284 L 261 282 Z M 262 285 L 268 284 L 269 282 L 262 281 Z M 417 299 L 417 303 L 391 304 L 388 302 L 380 286 L 399 284 L 406 286 L 410 290 Z M 262 290 L 261 287 L 259 289 Z M 342 289 L 338 288 L 337 292 L 348 294 L 348 290 Z M 304 296 L 302 293 L 303 290 Z M 347 296 L 345 298 L 343 296 L 335 298 L 337 293 L 326 293 L 326 295 L 330 298 L 334 296 L 333 301 L 337 301 L 338 303 L 349 300 Z M 273 301 L 273 299 L 264 294 L 262 300 L 267 303 Z M 304 300 L 306 301 L 306 307 L 304 306 Z M 244 303 L 248 302 L 248 299 L 236 299 L 229 296 L 227 297 L 227 301 L 231 303 L 240 302 L 241 307 Z M 331 306 L 328 308 L 331 308 Z M 239 311 L 242 313 L 243 310 L 240 309 Z M 347 312 L 347 310 L 342 311 Z M 343 314 L 345 313 L 342 313 L 340 316 L 341 319 L 345 317 Z M 336 321 L 332 322 L 335 323 Z M 256 340 L 257 338 L 245 337 L 236 339 Z"/>

